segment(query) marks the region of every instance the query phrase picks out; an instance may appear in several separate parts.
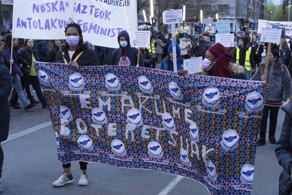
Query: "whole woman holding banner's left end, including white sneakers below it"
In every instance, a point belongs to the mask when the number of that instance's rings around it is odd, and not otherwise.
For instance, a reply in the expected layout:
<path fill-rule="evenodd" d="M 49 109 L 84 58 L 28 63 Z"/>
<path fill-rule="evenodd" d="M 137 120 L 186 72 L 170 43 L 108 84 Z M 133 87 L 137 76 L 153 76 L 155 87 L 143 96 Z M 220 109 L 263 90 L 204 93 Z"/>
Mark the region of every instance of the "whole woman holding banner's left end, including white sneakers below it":
<path fill-rule="evenodd" d="M 61 50 L 57 53 L 56 62 L 65 63 L 69 66 L 97 66 L 100 65 L 99 59 L 94 52 L 94 46 L 83 41 L 82 30 L 80 25 L 71 22 L 65 28 L 66 44 L 60 46 Z M 85 186 L 87 180 L 87 164 L 88 162 L 79 161 L 81 173 L 79 173 L 78 185 Z M 72 183 L 74 178 L 71 174 L 71 163 L 62 164 L 63 174 L 53 183 L 53 186 L 64 186 L 67 183 Z"/>

